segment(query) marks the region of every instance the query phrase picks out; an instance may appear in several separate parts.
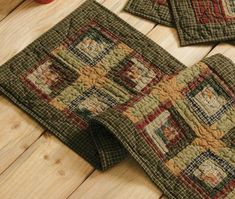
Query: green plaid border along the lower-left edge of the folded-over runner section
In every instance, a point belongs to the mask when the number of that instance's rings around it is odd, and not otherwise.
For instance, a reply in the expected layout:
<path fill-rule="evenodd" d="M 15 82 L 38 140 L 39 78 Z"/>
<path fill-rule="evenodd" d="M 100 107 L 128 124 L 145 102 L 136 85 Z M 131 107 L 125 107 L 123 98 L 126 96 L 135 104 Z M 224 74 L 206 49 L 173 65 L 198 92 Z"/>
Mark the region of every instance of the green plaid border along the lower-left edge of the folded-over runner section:
<path fill-rule="evenodd" d="M 155 177 L 154 170 L 151 170 L 147 166 L 147 164 L 149 164 L 149 160 L 144 159 L 143 156 L 141 156 L 141 147 L 144 147 L 144 141 L 140 138 L 140 136 L 137 136 L 138 132 L 128 118 L 124 117 L 121 113 L 110 109 L 92 120 L 91 124 L 93 131 L 96 131 L 96 133 L 100 133 L 105 130 L 107 134 L 110 133 L 115 135 L 115 137 L 120 140 L 122 145 L 140 164 L 150 179 L 164 192 L 164 194 L 169 198 L 174 198 L 174 196 L 165 188 L 164 184 L 162 184 L 162 178 L 160 176 L 158 176 L 158 178 Z M 99 131 L 99 129 L 102 129 L 102 131 Z M 120 133 L 120 131 L 123 133 Z M 130 137 L 129 139 L 135 139 L 136 142 L 132 144 L 128 143 L 125 138 L 127 136 Z M 138 143 L 138 145 L 136 145 L 136 143 Z"/>

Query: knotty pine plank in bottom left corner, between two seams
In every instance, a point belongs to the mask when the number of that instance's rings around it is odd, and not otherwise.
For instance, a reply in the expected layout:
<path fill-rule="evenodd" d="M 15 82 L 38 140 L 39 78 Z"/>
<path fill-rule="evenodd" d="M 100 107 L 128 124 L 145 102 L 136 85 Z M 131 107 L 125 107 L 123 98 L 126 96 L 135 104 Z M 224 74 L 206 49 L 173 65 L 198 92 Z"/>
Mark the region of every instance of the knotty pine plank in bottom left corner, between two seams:
<path fill-rule="evenodd" d="M 0 176 L 0 198 L 66 198 L 93 168 L 54 136 L 43 135 Z"/>

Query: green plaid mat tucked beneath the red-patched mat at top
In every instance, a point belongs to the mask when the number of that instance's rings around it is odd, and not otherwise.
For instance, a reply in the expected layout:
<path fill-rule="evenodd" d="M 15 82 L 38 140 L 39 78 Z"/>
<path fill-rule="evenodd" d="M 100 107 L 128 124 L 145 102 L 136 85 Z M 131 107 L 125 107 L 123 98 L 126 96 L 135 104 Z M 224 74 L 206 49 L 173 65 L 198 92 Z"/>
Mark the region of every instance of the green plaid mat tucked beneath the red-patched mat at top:
<path fill-rule="evenodd" d="M 159 24 L 174 25 L 168 0 L 129 0 L 125 10 Z"/>

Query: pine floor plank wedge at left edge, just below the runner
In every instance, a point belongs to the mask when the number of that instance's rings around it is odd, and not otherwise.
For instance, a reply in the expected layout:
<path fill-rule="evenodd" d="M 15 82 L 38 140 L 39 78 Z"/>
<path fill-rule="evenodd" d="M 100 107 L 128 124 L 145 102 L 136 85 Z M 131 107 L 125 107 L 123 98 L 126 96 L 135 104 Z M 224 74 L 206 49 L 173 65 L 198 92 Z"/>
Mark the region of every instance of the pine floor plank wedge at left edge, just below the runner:
<path fill-rule="evenodd" d="M 37 140 L 43 129 L 19 108 L 0 97 L 0 173 Z"/>

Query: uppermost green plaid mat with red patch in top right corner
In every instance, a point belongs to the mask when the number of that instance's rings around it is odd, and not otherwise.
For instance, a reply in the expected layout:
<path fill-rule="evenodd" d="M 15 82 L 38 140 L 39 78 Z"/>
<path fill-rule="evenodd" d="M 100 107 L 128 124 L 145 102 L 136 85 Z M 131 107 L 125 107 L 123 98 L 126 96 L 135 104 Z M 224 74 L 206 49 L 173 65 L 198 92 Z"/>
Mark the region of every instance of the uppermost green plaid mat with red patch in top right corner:
<path fill-rule="evenodd" d="M 181 45 L 235 40 L 234 0 L 169 2 Z"/>

